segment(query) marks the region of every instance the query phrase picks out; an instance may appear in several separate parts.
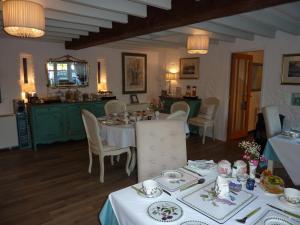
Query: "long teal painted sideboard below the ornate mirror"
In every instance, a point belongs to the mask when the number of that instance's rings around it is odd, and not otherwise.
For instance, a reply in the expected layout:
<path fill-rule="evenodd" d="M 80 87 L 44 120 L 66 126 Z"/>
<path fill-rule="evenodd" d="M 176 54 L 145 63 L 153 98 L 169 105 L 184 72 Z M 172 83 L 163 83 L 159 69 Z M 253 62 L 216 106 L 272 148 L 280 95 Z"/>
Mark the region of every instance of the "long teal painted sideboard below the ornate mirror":
<path fill-rule="evenodd" d="M 104 116 L 106 101 L 32 104 L 28 105 L 32 144 L 51 144 L 86 138 L 81 109 L 87 109 L 96 117 Z"/>

